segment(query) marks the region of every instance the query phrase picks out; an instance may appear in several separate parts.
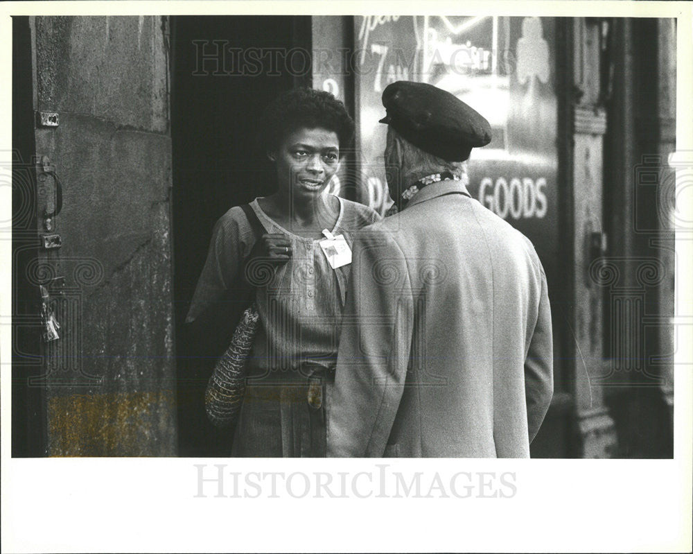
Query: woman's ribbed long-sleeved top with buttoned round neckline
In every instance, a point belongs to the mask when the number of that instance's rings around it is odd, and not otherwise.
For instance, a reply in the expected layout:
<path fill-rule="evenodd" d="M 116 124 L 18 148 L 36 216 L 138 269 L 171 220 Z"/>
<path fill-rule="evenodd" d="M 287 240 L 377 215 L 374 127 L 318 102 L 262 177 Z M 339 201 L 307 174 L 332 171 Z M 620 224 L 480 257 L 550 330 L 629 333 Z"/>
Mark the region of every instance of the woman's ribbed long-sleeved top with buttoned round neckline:
<path fill-rule="evenodd" d="M 380 217 L 365 205 L 343 198 L 339 201 L 340 214 L 331 232 L 343 234 L 351 247 L 352 233 Z M 305 372 L 307 366 L 334 367 L 351 264 L 332 269 L 319 246 L 324 239 L 307 239 L 284 229 L 265 214 L 257 199 L 250 206 L 268 233 L 283 233 L 290 239 L 293 254 L 277 268 L 268 286 L 258 288 L 261 326 L 251 352 L 249 377 L 281 382 L 299 377 L 299 368 Z M 218 301 L 225 289 L 236 286 L 240 263 L 254 241 L 240 207 L 229 209 L 218 220 L 188 322 Z"/>

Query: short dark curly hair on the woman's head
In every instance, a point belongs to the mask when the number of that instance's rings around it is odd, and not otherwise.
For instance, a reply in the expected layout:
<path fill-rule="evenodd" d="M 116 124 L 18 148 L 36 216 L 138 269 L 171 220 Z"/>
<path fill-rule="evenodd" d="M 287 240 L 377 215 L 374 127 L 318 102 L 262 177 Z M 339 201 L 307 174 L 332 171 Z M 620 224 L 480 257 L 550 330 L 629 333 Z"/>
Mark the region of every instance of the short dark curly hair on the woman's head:
<path fill-rule="evenodd" d="M 341 101 L 329 92 L 297 88 L 280 94 L 265 107 L 258 144 L 263 151 L 269 152 L 298 128 L 334 131 L 340 141 L 340 151 L 347 150 L 353 140 L 353 119 Z"/>

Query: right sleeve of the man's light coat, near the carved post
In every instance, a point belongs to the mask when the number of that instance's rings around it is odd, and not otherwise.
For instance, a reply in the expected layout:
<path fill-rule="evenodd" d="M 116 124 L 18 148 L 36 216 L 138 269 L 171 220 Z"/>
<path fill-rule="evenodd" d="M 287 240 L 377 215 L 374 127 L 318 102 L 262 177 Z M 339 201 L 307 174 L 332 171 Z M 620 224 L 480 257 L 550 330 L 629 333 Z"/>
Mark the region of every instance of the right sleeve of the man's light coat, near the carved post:
<path fill-rule="evenodd" d="M 525 358 L 525 395 L 527 397 L 527 431 L 534 440 L 544 420 L 554 391 L 553 340 L 551 308 L 546 275 L 541 268 L 541 295 L 534 333 Z"/>

